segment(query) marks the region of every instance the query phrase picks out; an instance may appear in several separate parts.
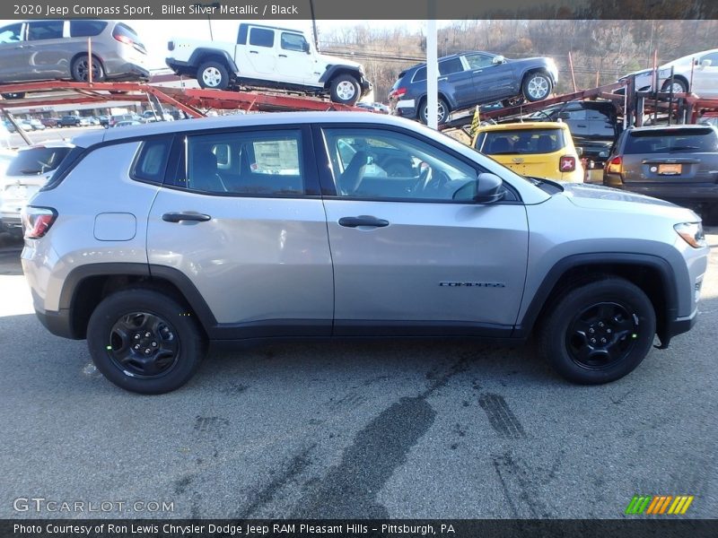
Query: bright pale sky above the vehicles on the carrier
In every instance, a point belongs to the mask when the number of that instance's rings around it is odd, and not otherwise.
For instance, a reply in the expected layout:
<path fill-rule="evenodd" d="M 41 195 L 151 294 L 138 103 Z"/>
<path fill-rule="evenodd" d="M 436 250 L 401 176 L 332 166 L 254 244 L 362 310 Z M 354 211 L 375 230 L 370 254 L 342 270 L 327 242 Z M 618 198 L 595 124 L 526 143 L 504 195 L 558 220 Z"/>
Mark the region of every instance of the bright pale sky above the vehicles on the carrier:
<path fill-rule="evenodd" d="M 0 21 L 0 26 L 11 24 L 16 21 Z M 123 21 L 134 28 L 140 39 L 147 48 L 148 59 L 147 66 L 150 69 L 161 69 L 166 67 L 164 58 L 167 56 L 167 42 L 173 37 L 190 38 L 191 39 L 209 39 L 209 23 L 206 19 L 196 19 L 191 21 L 150 21 L 135 20 Z M 216 40 L 232 41 L 237 39 L 237 29 L 241 21 L 212 21 L 212 32 Z M 268 25 L 281 26 L 284 28 L 293 28 L 304 30 L 307 36 L 311 36 L 311 21 L 268 21 L 261 22 Z M 437 27 L 441 27 L 444 21 L 438 21 Z M 354 27 L 361 25 L 359 21 L 318 21 L 317 30 L 322 32 L 330 32 L 340 28 Z M 368 23 L 366 23 L 368 24 Z M 404 28 L 407 30 L 421 30 L 425 28 L 424 21 L 372 21 L 372 28 Z"/>

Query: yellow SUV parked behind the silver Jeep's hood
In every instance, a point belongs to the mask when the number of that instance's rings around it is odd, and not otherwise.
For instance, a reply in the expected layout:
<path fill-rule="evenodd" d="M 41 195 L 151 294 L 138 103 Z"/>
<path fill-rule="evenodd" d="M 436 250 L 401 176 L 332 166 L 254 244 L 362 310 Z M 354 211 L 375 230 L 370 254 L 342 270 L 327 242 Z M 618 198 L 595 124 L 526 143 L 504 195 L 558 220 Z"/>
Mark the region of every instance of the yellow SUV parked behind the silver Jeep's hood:
<path fill-rule="evenodd" d="M 481 126 L 471 145 L 522 176 L 583 182 L 583 167 L 565 123 Z"/>

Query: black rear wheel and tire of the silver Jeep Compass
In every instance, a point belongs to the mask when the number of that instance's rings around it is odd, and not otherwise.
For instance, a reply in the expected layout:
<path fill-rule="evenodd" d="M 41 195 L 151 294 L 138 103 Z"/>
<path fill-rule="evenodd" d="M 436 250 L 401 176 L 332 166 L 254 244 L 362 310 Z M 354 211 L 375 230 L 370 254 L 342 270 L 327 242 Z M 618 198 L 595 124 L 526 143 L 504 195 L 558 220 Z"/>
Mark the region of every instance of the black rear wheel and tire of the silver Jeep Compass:
<path fill-rule="evenodd" d="M 206 353 L 205 336 L 188 309 L 146 289 L 118 291 L 103 299 L 87 325 L 87 345 L 109 381 L 144 395 L 183 386 Z"/>

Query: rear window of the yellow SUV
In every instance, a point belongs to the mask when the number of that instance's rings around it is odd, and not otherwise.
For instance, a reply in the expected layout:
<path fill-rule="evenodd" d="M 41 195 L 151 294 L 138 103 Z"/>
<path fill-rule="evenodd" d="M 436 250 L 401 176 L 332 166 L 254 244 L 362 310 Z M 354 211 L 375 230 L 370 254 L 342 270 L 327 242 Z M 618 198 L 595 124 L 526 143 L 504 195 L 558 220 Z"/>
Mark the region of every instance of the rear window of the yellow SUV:
<path fill-rule="evenodd" d="M 476 149 L 485 155 L 553 153 L 565 147 L 561 129 L 487 131 L 477 137 Z"/>

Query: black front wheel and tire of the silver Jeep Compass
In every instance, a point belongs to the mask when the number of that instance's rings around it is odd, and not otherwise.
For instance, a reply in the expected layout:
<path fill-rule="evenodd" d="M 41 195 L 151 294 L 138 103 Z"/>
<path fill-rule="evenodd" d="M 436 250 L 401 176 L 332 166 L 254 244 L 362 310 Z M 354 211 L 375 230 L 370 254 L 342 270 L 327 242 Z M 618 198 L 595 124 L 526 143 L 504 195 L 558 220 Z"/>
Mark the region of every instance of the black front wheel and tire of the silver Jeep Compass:
<path fill-rule="evenodd" d="M 608 277 L 583 283 L 558 299 L 540 329 L 538 346 L 561 376 L 600 385 L 641 364 L 655 332 L 651 299 L 635 284 Z"/>

